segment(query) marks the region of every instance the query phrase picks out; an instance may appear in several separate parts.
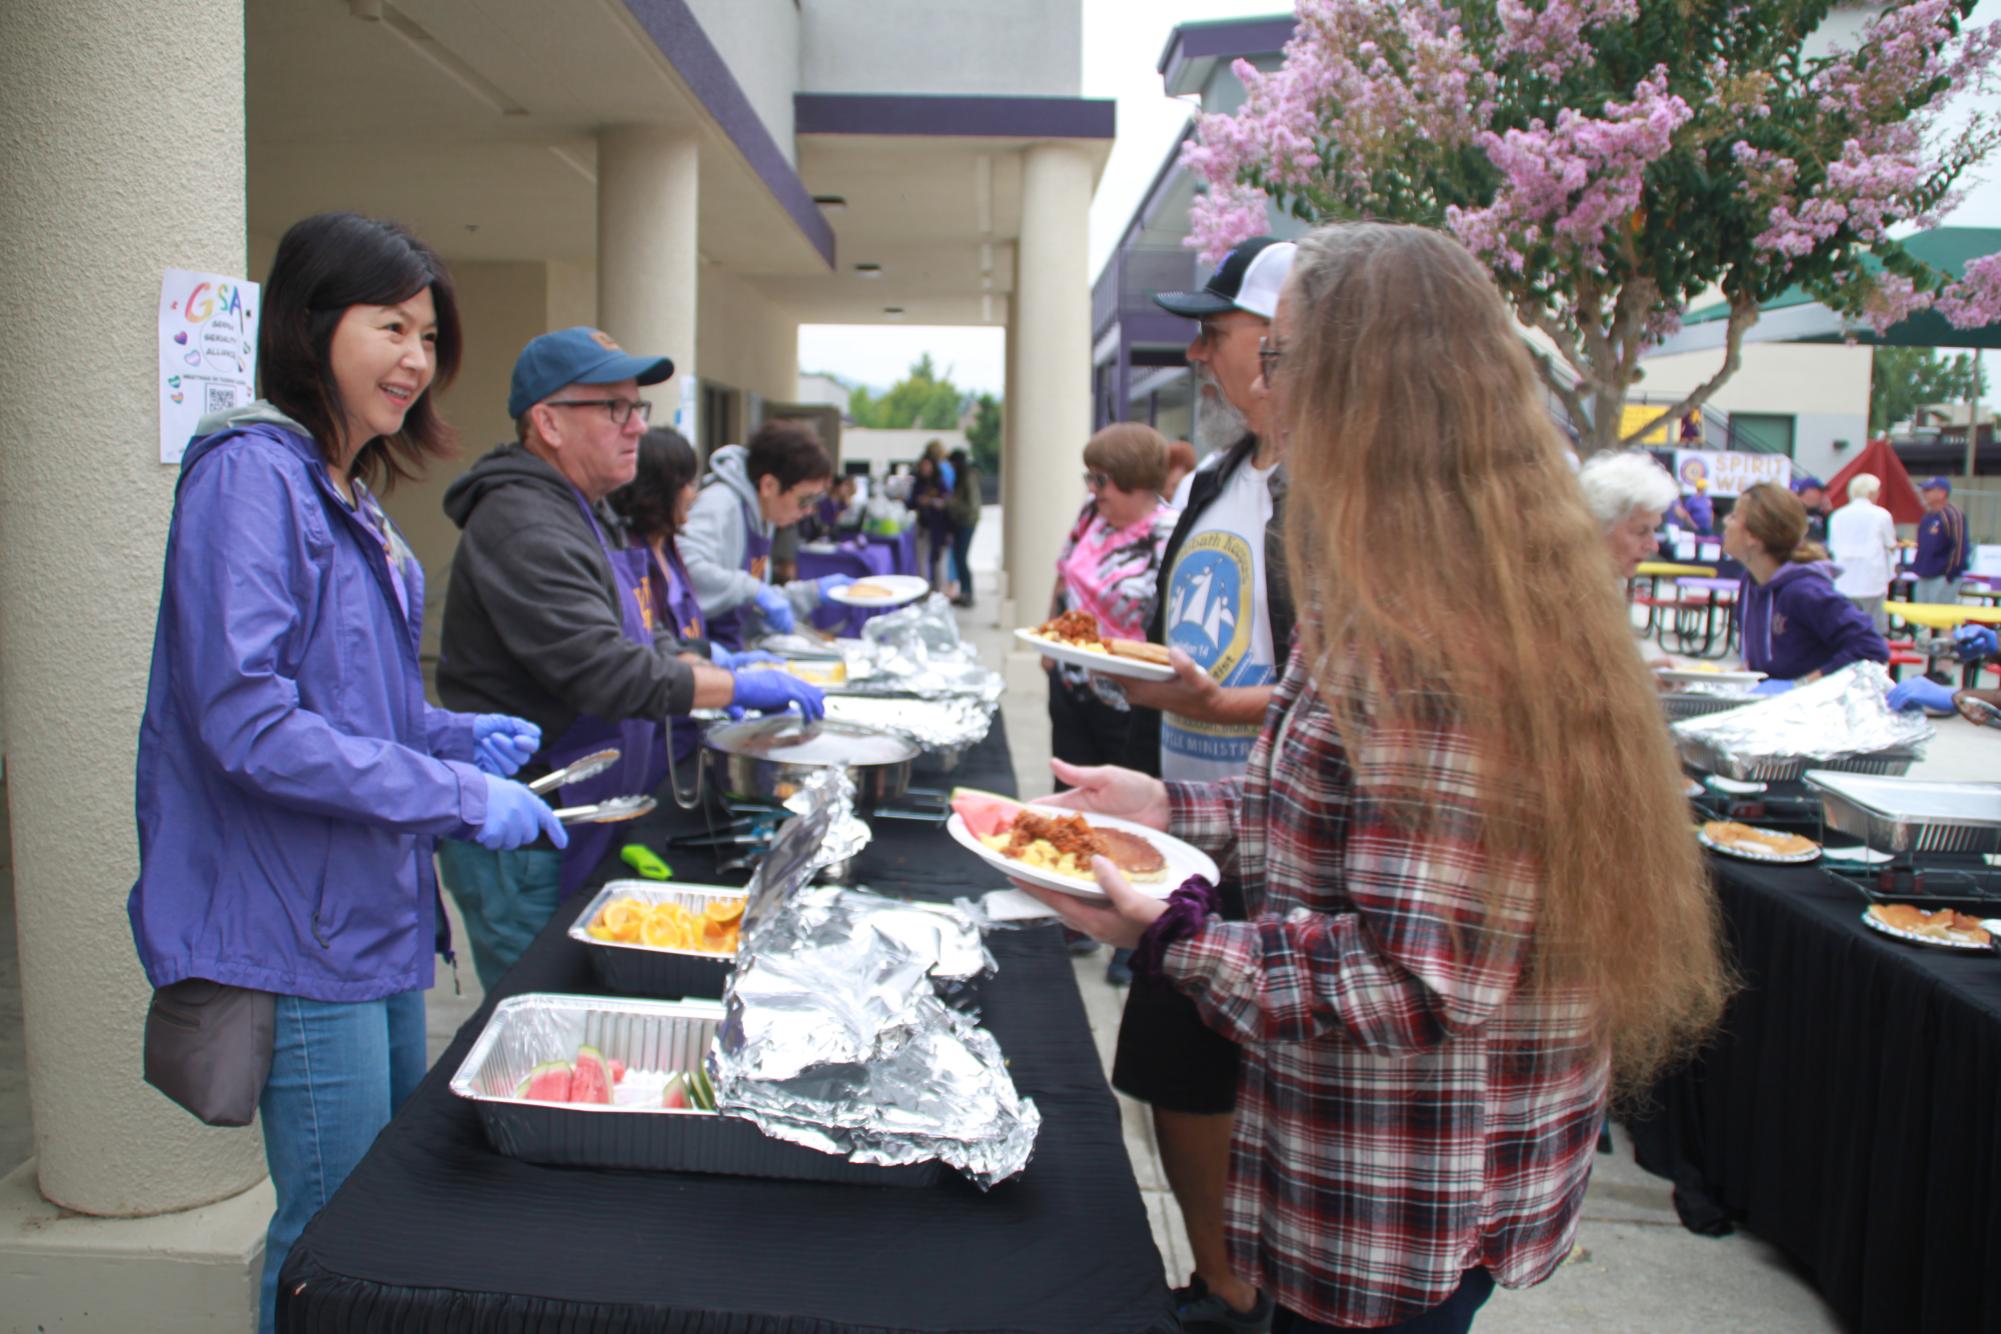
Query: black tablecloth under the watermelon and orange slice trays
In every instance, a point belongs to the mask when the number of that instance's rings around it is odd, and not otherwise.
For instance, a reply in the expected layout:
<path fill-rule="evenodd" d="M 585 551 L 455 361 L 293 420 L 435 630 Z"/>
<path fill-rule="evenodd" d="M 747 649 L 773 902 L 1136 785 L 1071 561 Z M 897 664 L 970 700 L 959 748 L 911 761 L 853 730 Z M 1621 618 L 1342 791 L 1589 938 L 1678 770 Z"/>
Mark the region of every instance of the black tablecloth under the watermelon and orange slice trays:
<path fill-rule="evenodd" d="M 920 770 L 918 782 L 1013 792 L 1000 720 L 956 772 Z M 636 832 L 658 848 L 670 826 L 700 822 L 662 816 Z M 992 888 L 942 828 L 876 820 L 874 830 L 856 858 L 862 884 L 924 898 Z M 700 854 L 670 860 L 682 880 L 710 870 Z M 600 990 L 566 928 L 558 914 L 496 996 Z M 488 998 L 292 1248 L 280 1328 L 1173 1330 L 1059 934 L 1037 926 L 988 944 L 998 972 L 982 988 L 984 1022 L 1043 1112 L 1035 1158 L 1015 1180 L 982 1194 L 958 1176 L 932 1188 L 836 1186 L 502 1158 L 446 1086 Z"/>

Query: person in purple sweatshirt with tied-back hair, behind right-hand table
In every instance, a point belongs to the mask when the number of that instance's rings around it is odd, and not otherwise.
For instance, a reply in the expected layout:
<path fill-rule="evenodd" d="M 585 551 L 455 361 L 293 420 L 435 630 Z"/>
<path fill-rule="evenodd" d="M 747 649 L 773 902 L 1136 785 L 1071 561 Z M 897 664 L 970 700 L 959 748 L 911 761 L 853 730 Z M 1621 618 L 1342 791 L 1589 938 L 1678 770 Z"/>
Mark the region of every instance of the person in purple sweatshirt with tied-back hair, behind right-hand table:
<path fill-rule="evenodd" d="M 1765 692 L 1851 662 L 1889 662 L 1869 614 L 1835 590 L 1827 552 L 1805 538 L 1807 506 L 1771 482 L 1747 488 L 1723 520 L 1723 550 L 1747 570 L 1737 600 L 1745 666 L 1773 678 Z"/>

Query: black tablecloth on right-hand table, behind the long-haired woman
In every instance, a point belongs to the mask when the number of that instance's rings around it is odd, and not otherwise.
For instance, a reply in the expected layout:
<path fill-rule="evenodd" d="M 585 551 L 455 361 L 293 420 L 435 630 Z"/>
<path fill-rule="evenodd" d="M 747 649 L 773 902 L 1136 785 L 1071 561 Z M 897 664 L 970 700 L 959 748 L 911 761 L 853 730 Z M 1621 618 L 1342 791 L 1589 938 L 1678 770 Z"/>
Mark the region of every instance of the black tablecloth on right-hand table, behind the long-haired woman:
<path fill-rule="evenodd" d="M 1633 1126 L 1641 1164 L 1851 1328 L 2001 1328 L 2001 958 L 1881 936 L 1819 868 L 1715 870 L 1745 990 Z"/>

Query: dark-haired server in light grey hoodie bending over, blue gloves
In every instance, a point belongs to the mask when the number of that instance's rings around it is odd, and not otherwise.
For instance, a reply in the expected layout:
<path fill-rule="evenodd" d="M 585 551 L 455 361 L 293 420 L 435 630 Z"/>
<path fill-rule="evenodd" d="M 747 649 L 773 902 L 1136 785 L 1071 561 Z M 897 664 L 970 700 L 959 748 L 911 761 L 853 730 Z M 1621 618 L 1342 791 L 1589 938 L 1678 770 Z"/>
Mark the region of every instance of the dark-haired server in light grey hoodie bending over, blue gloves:
<path fill-rule="evenodd" d="M 758 426 L 748 446 L 726 444 L 708 460 L 680 554 L 710 640 L 734 650 L 764 630 L 788 634 L 822 594 L 854 582 L 848 574 L 770 582 L 772 534 L 796 524 L 832 476 L 834 460 L 812 428 L 784 418 Z"/>

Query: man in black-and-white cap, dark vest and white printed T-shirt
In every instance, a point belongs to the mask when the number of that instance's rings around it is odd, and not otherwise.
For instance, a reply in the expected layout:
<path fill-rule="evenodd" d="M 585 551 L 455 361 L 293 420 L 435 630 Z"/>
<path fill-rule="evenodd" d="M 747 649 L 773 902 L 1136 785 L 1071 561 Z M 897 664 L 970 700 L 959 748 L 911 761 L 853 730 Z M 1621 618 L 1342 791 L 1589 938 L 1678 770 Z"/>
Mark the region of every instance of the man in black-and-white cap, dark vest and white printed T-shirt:
<path fill-rule="evenodd" d="M 1171 648 L 1175 680 L 1121 682 L 1133 704 L 1127 764 L 1181 782 L 1241 774 L 1293 640 L 1285 582 L 1285 470 L 1265 430 L 1259 346 L 1279 308 L 1297 246 L 1241 242 L 1199 292 L 1155 302 L 1199 320 L 1189 342 L 1195 440 L 1211 450 L 1175 502 L 1181 518 L 1161 556 L 1147 638 Z M 1059 770 L 1065 782 L 1077 782 Z M 1243 886 L 1221 886 L 1223 914 L 1243 918 Z M 1135 980 L 1119 1024 L 1113 1086 L 1153 1106 L 1155 1136 L 1189 1230 L 1195 1274 L 1175 1290 L 1187 1330 L 1265 1330 L 1271 1300 L 1243 1280 L 1223 1236 L 1223 1186 L 1237 1106 L 1237 1044 L 1195 1002 Z"/>

